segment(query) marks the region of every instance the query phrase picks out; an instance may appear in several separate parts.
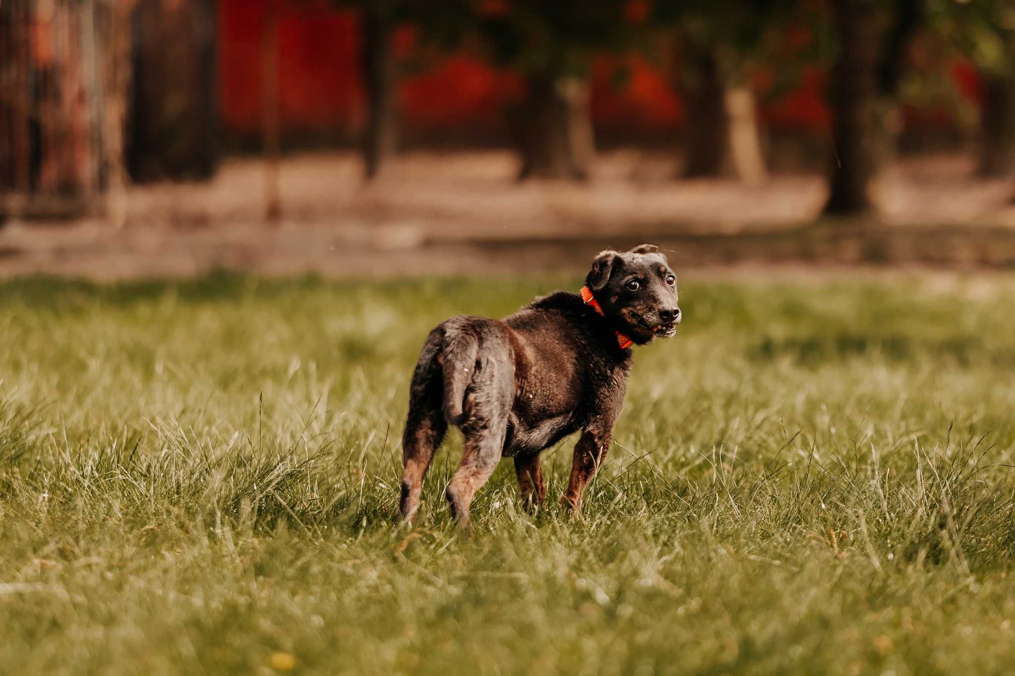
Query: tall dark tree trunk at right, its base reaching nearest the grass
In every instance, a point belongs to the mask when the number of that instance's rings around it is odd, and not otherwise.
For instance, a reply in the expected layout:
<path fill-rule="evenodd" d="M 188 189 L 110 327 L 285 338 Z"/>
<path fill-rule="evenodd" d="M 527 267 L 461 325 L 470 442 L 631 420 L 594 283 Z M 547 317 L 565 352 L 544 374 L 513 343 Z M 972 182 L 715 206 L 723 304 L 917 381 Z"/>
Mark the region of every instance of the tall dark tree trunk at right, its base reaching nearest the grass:
<path fill-rule="evenodd" d="M 857 216 L 873 209 L 876 166 L 877 30 L 874 0 L 834 0 L 838 57 L 830 73 L 832 162 L 824 213 Z"/>

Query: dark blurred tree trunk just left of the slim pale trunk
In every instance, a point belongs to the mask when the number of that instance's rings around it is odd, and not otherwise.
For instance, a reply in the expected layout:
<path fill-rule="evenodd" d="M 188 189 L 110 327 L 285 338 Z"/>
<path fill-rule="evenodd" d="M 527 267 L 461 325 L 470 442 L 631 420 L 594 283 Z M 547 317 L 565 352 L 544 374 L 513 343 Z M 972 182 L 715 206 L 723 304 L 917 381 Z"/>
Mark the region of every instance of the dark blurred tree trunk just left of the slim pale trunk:
<path fill-rule="evenodd" d="M 681 175 L 698 178 L 730 173 L 730 118 L 716 55 L 682 50 L 678 90 L 687 110 Z"/>

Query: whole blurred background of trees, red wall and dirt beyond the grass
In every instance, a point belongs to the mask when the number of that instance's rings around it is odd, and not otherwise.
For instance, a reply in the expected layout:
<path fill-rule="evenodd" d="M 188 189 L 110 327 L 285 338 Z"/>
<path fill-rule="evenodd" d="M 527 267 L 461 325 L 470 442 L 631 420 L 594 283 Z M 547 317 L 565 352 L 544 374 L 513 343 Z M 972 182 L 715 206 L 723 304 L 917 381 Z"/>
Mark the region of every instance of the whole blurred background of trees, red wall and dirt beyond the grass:
<path fill-rule="evenodd" d="M 0 0 L 0 274 L 1015 265 L 1015 0 Z"/>

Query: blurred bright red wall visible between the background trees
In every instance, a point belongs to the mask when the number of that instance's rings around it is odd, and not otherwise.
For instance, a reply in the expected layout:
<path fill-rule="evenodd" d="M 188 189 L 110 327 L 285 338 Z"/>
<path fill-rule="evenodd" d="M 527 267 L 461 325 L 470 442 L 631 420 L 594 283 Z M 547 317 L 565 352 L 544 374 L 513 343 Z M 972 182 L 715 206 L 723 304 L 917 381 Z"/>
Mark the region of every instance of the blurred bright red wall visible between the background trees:
<path fill-rule="evenodd" d="M 221 112 L 226 129 L 255 135 L 261 115 L 260 30 L 268 2 L 285 8 L 278 19 L 281 118 L 287 133 L 327 132 L 352 138 L 363 119 L 363 95 L 357 70 L 356 17 L 327 0 L 221 0 L 219 63 Z M 480 136 L 501 128 L 504 103 L 522 94 L 517 76 L 475 59 L 453 55 L 439 59 L 420 49 L 412 29 L 402 29 L 396 50 L 406 77 L 399 96 L 408 131 L 439 134 L 468 129 Z M 615 72 L 626 66 L 625 86 L 615 86 Z M 956 71 L 960 88 L 975 96 L 969 74 Z M 764 89 L 765 77 L 755 82 Z M 822 90 L 824 72 L 804 74 L 800 87 L 762 109 L 773 129 L 825 129 L 828 110 Z M 967 91 L 966 91 L 967 90 Z M 681 124 L 681 105 L 666 78 L 639 58 L 602 57 L 593 64 L 592 112 L 597 129 L 666 133 Z"/>

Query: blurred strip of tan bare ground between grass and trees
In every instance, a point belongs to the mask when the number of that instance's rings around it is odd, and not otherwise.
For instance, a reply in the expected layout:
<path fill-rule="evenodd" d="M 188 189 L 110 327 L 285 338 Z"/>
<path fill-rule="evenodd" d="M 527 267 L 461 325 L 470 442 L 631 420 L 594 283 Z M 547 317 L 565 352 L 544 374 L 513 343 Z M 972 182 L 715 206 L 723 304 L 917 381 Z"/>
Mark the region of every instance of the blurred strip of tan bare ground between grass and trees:
<path fill-rule="evenodd" d="M 417 153 L 364 185 L 351 154 L 295 157 L 281 170 L 282 221 L 269 225 L 261 163 L 231 160 L 206 183 L 132 189 L 119 230 L 97 219 L 9 222 L 0 229 L 0 275 L 568 270 L 604 246 L 645 240 L 698 267 L 1015 266 L 1012 185 L 971 180 L 961 158 L 886 170 L 875 186 L 877 227 L 805 227 L 825 196 L 817 176 L 775 176 L 758 186 L 675 181 L 674 165 L 666 156 L 615 152 L 601 158 L 587 183 L 518 184 L 509 153 Z"/>

